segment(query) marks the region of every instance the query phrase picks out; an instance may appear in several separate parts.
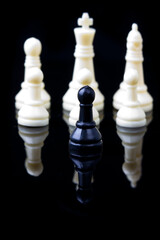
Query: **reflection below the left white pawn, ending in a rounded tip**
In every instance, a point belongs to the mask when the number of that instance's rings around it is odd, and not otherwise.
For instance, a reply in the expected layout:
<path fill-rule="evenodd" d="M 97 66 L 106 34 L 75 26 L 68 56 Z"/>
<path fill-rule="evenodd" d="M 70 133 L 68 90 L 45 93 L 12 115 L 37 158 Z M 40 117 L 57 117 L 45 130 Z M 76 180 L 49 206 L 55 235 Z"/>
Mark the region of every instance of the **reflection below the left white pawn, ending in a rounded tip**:
<path fill-rule="evenodd" d="M 18 125 L 18 130 L 25 145 L 25 168 L 28 174 L 37 177 L 43 172 L 41 150 L 48 136 L 48 126 L 30 128 Z"/>

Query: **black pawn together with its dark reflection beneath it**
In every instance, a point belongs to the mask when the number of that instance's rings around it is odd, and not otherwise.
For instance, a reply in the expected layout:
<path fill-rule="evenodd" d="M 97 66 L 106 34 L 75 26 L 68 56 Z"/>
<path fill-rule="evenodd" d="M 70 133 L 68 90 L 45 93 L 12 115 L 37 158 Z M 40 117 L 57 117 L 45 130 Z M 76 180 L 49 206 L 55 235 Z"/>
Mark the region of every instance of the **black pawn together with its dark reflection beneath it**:
<path fill-rule="evenodd" d="M 79 90 L 79 120 L 69 141 L 70 157 L 76 166 L 79 178 L 77 199 L 84 204 L 91 200 L 92 174 L 101 158 L 103 145 L 101 134 L 92 116 L 94 98 L 95 92 L 89 86 L 84 86 Z"/>

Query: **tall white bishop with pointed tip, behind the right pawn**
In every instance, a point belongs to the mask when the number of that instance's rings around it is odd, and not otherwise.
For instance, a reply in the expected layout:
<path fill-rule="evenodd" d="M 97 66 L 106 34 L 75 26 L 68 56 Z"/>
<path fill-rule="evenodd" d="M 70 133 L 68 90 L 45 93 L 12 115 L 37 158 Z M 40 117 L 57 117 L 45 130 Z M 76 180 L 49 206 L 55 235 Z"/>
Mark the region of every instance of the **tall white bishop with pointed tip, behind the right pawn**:
<path fill-rule="evenodd" d="M 138 25 L 133 23 L 132 29 L 127 36 L 127 51 L 126 51 L 126 65 L 125 72 L 128 68 L 133 68 L 138 71 L 139 80 L 137 86 L 137 97 L 140 102 L 140 106 L 143 108 L 145 112 L 152 111 L 153 109 L 153 98 L 148 93 L 148 88 L 144 83 L 144 74 L 143 74 L 143 39 L 138 31 Z M 125 74 L 125 73 L 124 73 Z M 117 110 L 123 105 L 124 98 L 126 94 L 126 84 L 123 80 L 120 83 L 119 89 L 113 95 L 113 107 Z"/>

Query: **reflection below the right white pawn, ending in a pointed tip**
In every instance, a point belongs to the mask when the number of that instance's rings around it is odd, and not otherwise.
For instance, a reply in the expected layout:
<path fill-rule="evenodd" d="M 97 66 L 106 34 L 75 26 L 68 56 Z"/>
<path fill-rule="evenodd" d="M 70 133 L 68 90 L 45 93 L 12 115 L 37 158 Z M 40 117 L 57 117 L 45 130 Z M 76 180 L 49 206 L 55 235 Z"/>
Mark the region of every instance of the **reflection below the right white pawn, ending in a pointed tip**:
<path fill-rule="evenodd" d="M 137 182 L 142 175 L 142 146 L 143 137 L 146 133 L 146 126 L 140 128 L 126 128 L 117 125 L 117 134 L 122 140 L 124 147 L 124 163 L 122 170 L 130 181 L 132 188 L 137 186 Z"/>

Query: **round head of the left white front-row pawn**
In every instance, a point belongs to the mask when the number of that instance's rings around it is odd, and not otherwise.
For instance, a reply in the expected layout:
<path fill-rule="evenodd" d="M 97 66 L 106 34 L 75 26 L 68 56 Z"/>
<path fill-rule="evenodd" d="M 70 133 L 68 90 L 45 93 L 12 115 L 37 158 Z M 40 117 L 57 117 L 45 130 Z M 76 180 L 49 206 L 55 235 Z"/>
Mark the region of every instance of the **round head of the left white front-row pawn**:
<path fill-rule="evenodd" d="M 40 84 L 43 80 L 43 72 L 38 67 L 30 68 L 27 72 L 26 80 L 31 84 Z"/>

